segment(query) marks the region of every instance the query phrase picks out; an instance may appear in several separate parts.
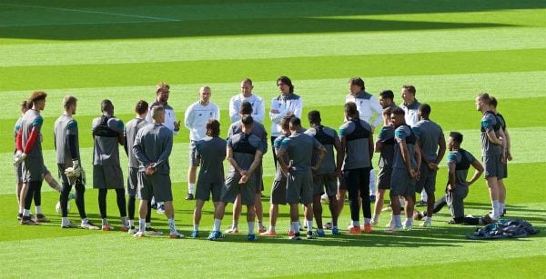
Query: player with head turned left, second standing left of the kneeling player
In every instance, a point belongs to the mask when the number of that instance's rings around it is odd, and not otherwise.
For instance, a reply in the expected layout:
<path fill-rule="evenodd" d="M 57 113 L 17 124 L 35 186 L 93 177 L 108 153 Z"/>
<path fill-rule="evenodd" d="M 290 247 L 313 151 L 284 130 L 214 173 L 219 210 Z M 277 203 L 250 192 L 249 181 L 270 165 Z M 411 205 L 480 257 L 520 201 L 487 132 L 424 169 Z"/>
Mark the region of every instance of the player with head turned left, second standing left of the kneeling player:
<path fill-rule="evenodd" d="M 392 219 L 387 233 L 394 233 L 402 228 L 400 219 L 401 195 L 406 201 L 404 212 L 406 222 L 404 229 L 410 231 L 413 228 L 413 206 L 415 204 L 415 180 L 420 174 L 420 148 L 417 138 L 409 125 L 406 125 L 404 111 L 397 107 L 392 110 L 390 120 L 395 127 L 394 161 L 392 164 L 392 176 L 390 177 L 390 203 L 392 206 Z"/>

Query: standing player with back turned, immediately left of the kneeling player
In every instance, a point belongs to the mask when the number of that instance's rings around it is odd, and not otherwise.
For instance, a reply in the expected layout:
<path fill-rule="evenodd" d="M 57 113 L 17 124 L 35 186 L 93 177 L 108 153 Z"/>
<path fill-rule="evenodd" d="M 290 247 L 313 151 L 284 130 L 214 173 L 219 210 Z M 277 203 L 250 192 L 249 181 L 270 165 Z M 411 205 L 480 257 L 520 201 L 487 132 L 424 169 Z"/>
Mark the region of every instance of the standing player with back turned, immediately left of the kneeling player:
<path fill-rule="evenodd" d="M 420 177 L 417 181 L 415 191 L 425 191 L 427 200 L 427 219 L 421 226 L 432 225 L 432 211 L 436 197 L 436 172 L 439 164 L 446 153 L 446 140 L 440 125 L 430 120 L 430 105 L 422 104 L 418 112 L 419 122 L 411 127 L 417 136 L 421 150 Z"/>

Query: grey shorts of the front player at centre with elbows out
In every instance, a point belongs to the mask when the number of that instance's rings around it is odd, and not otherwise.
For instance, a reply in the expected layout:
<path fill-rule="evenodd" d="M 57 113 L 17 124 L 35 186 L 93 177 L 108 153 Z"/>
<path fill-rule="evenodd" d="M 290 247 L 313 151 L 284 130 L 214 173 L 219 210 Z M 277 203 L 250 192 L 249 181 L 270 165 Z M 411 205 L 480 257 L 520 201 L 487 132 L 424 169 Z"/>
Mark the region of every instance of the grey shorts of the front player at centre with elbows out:
<path fill-rule="evenodd" d="M 287 203 L 311 204 L 313 203 L 313 176 L 308 174 L 288 173 Z"/>

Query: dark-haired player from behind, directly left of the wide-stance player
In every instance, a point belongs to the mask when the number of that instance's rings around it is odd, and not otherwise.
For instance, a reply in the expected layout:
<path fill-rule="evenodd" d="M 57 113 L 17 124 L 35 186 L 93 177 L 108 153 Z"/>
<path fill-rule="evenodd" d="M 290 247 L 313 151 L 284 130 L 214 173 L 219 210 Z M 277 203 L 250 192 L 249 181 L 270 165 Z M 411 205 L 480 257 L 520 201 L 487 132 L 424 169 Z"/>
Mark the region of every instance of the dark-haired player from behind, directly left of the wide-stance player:
<path fill-rule="evenodd" d="M 224 184 L 224 164 L 227 142 L 220 135 L 220 123 L 216 119 L 208 119 L 207 136 L 197 142 L 197 160 L 200 162 L 197 178 L 196 208 L 194 209 L 193 232 L 191 237 L 199 236 L 199 223 L 203 204 L 210 199 L 216 210 L 220 202 L 222 185 Z"/>

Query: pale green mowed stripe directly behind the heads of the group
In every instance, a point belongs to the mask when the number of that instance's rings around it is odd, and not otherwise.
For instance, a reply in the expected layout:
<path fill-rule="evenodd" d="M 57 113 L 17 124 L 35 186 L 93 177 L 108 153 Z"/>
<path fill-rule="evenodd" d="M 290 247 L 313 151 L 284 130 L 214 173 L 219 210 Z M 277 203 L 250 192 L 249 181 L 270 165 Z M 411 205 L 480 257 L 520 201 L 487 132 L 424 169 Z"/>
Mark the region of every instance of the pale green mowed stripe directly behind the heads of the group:
<path fill-rule="evenodd" d="M 253 78 L 251 75 L 250 77 Z M 468 109 L 470 112 L 470 109 L 473 108 L 470 105 L 473 104 L 475 96 L 480 92 L 490 92 L 491 95 L 495 95 L 501 102 L 501 111 L 504 111 L 505 114 L 506 110 L 518 114 L 525 113 L 525 110 L 520 109 L 522 107 L 538 109 L 538 104 L 541 103 L 543 97 L 546 97 L 546 91 L 542 90 L 544 87 L 543 81 L 546 79 L 546 72 L 543 71 L 458 75 L 362 76 L 362 78 L 365 81 L 366 90 L 373 95 L 378 96 L 383 89 L 392 89 L 397 104 L 401 103 L 399 94 L 401 85 L 412 84 L 417 87 L 417 98 L 420 102 L 430 104 L 450 102 L 446 104 L 450 104 L 449 111 L 453 112 L 459 112 L 459 109 Z M 212 102 L 222 109 L 227 109 L 229 99 L 238 94 L 240 79 L 242 77 L 229 83 L 207 83 L 212 88 Z M 267 109 L 271 105 L 271 99 L 278 96 L 275 80 L 276 77 L 268 81 L 254 82 L 254 92 L 264 99 Z M 296 87 L 296 93 L 304 98 L 304 109 L 322 109 L 325 106 L 336 107 L 337 104 L 341 105 L 345 102 L 345 95 L 349 93 L 348 80 L 349 76 L 326 79 L 293 79 L 292 82 Z M 178 118 L 182 118 L 187 106 L 197 101 L 198 88 L 203 84 L 173 84 L 168 80 L 162 81 L 166 81 L 171 85 L 171 95 L 168 103 L 175 108 Z M 59 104 L 62 104 L 65 95 L 75 95 L 78 98 L 79 105 L 76 119 L 81 119 L 83 123 L 90 122 L 90 120 L 82 119 L 83 116 L 96 117 L 99 114 L 99 104 L 106 97 L 116 105 L 116 114 L 128 115 L 134 110 L 138 100 L 153 101 L 156 84 L 157 82 L 143 86 L 46 89 L 48 94 L 47 105 L 42 115 L 56 119 L 58 115 L 62 114 L 62 107 Z M 520 94 L 521 92 L 525 94 Z M 3 100 L 8 100 L 0 103 L 0 110 L 6 112 L 0 115 L 0 119 L 10 119 L 15 123 L 19 116 L 19 102 L 25 100 L 31 93 L 31 90 L 0 91 Z M 325 102 L 324 98 L 318 97 L 320 95 L 328 95 L 328 102 Z M 537 102 L 529 102 L 528 95 L 532 95 Z M 522 100 L 517 101 L 517 98 Z M 507 102 L 508 99 L 510 99 L 509 102 Z M 457 103 L 451 103 L 452 101 Z M 532 107 L 529 107 L 530 105 Z M 444 111 L 445 108 L 443 107 L 437 111 Z M 338 112 L 337 109 L 334 109 L 334 111 Z M 122 119 L 130 119 L 132 116 L 128 115 Z M 342 116 L 334 117 L 332 121 L 342 119 Z M 529 121 L 532 121 L 526 118 L 519 118 L 523 126 L 529 125 Z M 327 117 L 324 119 L 329 120 Z M 511 125 L 514 124 L 511 123 Z M 9 121 L 1 122 L 0 127 L 2 127 L 0 129 L 0 135 L 2 135 L 2 133 L 9 132 L 12 124 Z"/>

